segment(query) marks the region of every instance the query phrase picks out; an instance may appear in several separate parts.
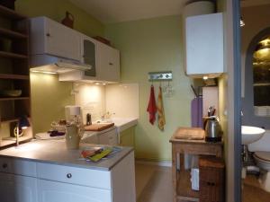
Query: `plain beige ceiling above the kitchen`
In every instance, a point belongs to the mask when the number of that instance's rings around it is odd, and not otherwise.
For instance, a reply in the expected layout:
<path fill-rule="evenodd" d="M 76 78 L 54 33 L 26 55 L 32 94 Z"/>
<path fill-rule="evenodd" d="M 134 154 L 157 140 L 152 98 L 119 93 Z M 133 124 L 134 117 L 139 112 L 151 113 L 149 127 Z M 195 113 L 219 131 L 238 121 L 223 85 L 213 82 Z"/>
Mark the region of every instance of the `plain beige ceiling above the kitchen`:
<path fill-rule="evenodd" d="M 69 0 L 103 23 L 180 14 L 188 0 Z"/>

